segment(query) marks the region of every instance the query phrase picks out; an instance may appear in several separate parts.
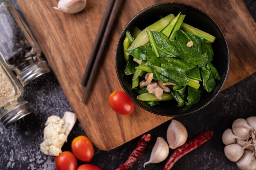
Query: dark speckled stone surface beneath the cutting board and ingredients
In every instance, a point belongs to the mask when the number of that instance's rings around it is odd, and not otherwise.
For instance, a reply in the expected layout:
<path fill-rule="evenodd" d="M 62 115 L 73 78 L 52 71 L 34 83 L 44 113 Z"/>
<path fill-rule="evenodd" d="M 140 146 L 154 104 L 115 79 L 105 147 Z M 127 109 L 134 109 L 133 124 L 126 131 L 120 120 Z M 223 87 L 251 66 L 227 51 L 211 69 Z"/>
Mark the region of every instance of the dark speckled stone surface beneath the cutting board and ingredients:
<path fill-rule="evenodd" d="M 11 2 L 16 5 L 15 0 Z M 254 0 L 245 0 L 245 2 L 256 19 L 256 2 Z M 41 77 L 25 90 L 24 98 L 29 102 L 35 114 L 29 115 L 9 128 L 4 128 L 0 124 L 0 170 L 54 170 L 55 158 L 43 155 L 39 148 L 43 141 L 44 124 L 48 116 L 62 117 L 64 111 L 72 111 L 72 108 L 53 73 Z M 214 136 L 200 148 L 182 157 L 172 169 L 238 170 L 236 163 L 225 157 L 223 152 L 225 145 L 222 144 L 221 137 L 225 129 L 231 128 L 235 119 L 255 116 L 255 99 L 256 74 L 220 93 L 211 104 L 199 112 L 177 117 L 176 119 L 186 126 L 189 137 L 206 130 L 213 130 Z M 149 133 L 153 138 L 145 154 L 131 170 L 144 169 L 143 163 L 149 159 L 156 138 L 166 139 L 166 130 L 170 122 L 150 130 Z M 63 151 L 70 150 L 72 139 L 79 135 L 85 135 L 85 132 L 77 121 L 68 137 L 68 142 L 63 146 Z M 126 161 L 138 140 L 139 137 L 111 151 L 95 148 L 94 157 L 90 163 L 103 170 L 114 170 Z M 173 150 L 170 150 L 170 154 L 172 152 Z M 150 164 L 146 169 L 161 170 L 164 162 Z"/>

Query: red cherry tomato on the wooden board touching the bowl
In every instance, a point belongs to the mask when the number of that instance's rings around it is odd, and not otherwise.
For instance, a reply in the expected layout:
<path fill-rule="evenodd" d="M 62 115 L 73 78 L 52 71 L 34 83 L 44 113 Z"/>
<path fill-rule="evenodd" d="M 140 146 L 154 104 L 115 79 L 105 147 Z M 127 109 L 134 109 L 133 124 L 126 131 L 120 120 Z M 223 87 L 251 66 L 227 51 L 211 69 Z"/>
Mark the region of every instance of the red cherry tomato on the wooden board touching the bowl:
<path fill-rule="evenodd" d="M 111 93 L 108 102 L 110 107 L 121 115 L 129 115 L 134 108 L 132 99 L 124 91 L 114 91 Z"/>

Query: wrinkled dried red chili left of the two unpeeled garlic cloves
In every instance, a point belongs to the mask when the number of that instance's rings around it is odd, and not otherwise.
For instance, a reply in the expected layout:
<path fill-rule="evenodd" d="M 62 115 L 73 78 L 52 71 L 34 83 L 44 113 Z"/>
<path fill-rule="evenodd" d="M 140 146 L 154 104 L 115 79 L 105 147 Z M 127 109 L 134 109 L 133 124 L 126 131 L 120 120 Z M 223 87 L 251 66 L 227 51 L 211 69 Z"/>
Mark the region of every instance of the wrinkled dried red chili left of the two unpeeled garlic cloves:
<path fill-rule="evenodd" d="M 141 155 L 145 152 L 146 147 L 148 146 L 148 142 L 151 140 L 151 135 L 143 135 L 141 139 L 139 139 L 138 145 L 135 150 L 128 157 L 127 161 L 121 165 L 116 170 L 128 170 L 137 160 L 141 157 Z"/>

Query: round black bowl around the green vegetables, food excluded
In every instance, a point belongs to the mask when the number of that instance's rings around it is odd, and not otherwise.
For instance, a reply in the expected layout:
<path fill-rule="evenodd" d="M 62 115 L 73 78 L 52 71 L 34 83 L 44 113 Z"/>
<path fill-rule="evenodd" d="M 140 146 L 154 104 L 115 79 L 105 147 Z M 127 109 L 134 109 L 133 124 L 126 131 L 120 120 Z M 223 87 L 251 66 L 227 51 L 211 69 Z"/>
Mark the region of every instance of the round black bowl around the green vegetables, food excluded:
<path fill-rule="evenodd" d="M 124 68 L 126 66 L 126 62 L 124 60 L 124 48 L 123 42 L 125 38 L 126 30 L 132 32 L 135 26 L 139 27 L 139 29 L 144 29 L 146 26 L 153 24 L 157 20 L 159 20 L 159 16 L 166 16 L 170 13 L 177 15 L 179 12 L 182 14 L 186 14 L 184 22 L 194 26 L 195 28 L 201 29 L 207 33 L 216 37 L 215 42 L 213 42 L 213 65 L 217 68 L 220 73 L 220 80 L 216 81 L 216 88 L 211 91 L 211 93 L 204 92 L 200 101 L 193 105 L 189 110 L 183 110 L 184 107 L 177 107 L 177 102 L 175 101 L 165 101 L 161 102 L 159 106 L 149 106 L 146 102 L 140 101 L 137 99 L 138 93 L 134 89 L 132 89 L 132 77 L 124 75 Z M 124 91 L 128 94 L 128 96 L 141 108 L 145 110 L 155 113 L 157 115 L 163 116 L 181 116 L 187 115 L 189 113 L 196 112 L 207 106 L 221 91 L 225 80 L 227 78 L 227 73 L 229 70 L 229 50 L 227 46 L 227 42 L 225 36 L 218 24 L 204 11 L 195 8 L 188 4 L 182 3 L 162 3 L 156 4 L 154 6 L 148 7 L 137 15 L 135 15 L 124 27 L 119 40 L 117 42 L 117 47 L 115 51 L 115 67 L 117 71 L 117 77 L 121 86 L 124 88 Z"/>

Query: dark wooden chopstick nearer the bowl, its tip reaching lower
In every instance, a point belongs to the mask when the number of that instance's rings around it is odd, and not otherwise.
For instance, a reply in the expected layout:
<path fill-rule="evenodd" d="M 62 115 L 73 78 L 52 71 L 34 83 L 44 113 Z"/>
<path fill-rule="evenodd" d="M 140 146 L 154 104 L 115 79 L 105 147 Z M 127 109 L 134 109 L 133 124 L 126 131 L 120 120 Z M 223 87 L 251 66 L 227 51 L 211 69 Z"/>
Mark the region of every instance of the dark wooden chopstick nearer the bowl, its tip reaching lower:
<path fill-rule="evenodd" d="M 105 33 L 103 35 L 101 44 L 99 46 L 99 51 L 97 53 L 95 62 L 93 64 L 93 67 L 92 67 L 92 70 L 91 70 L 91 75 L 89 77 L 88 84 L 87 84 L 86 89 L 85 89 L 85 94 L 83 95 L 83 100 L 82 100 L 83 103 L 87 102 L 87 100 L 88 100 L 88 97 L 89 97 L 89 94 L 90 94 L 90 91 L 91 91 L 91 88 L 92 88 L 92 84 L 94 82 L 94 79 L 96 79 L 97 69 L 99 68 L 100 61 L 105 56 L 105 55 L 103 55 L 103 52 L 104 52 L 104 49 L 106 47 L 109 35 L 112 31 L 112 27 L 115 24 L 115 18 L 117 17 L 117 14 L 118 14 L 119 8 L 121 7 L 122 2 L 124 3 L 124 0 L 115 0 L 115 4 L 114 4 L 114 7 L 111 11 L 110 18 L 108 20 L 108 24 L 106 26 Z"/>

